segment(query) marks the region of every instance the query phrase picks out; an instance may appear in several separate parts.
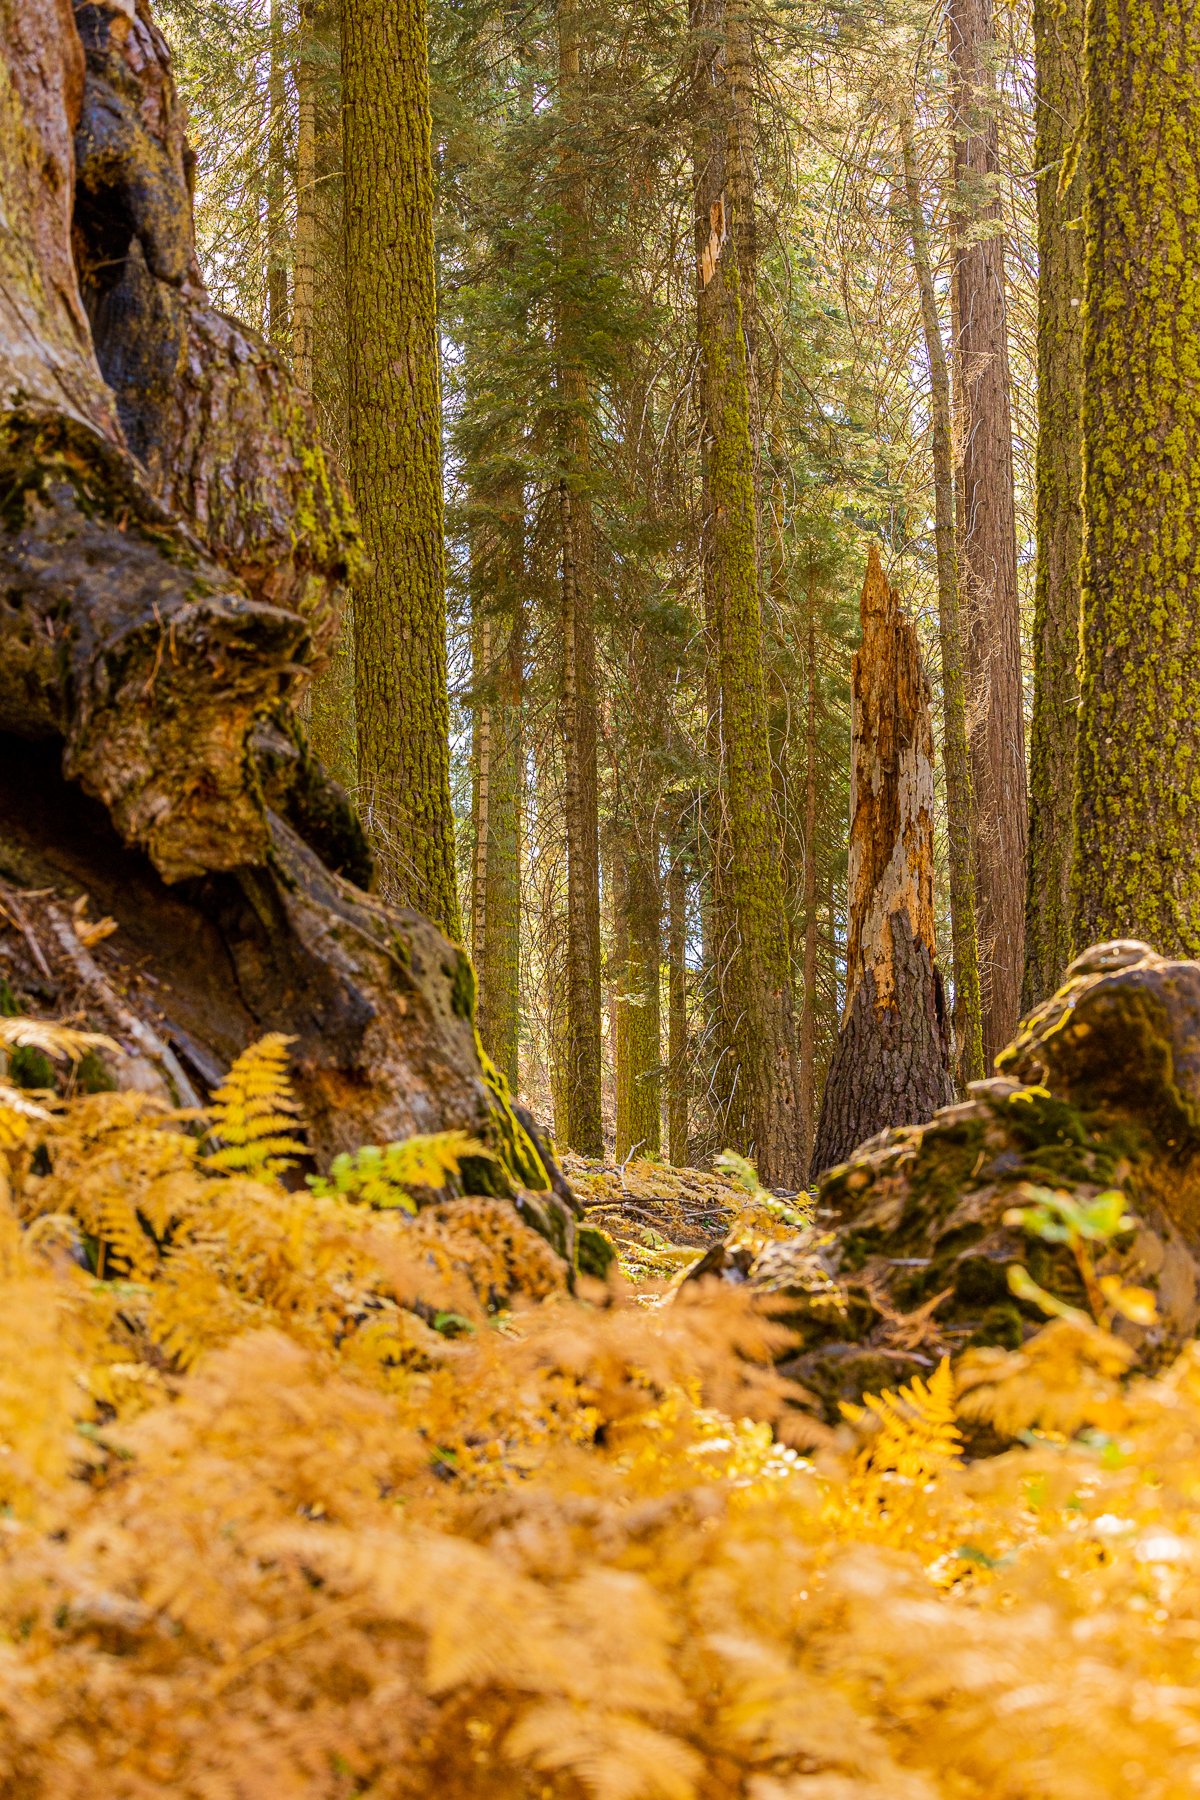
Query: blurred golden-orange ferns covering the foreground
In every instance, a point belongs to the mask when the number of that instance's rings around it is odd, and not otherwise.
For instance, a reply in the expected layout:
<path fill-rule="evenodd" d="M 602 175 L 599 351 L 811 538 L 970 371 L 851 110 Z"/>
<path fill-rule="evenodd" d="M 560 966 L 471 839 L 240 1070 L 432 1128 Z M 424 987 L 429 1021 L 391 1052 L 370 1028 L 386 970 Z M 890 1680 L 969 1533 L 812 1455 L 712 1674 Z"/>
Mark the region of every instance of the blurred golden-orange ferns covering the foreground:
<path fill-rule="evenodd" d="M 4 1795 L 1195 1793 L 1195 1348 L 1058 1318 L 829 1433 L 745 1291 L 286 1192 L 284 1049 L 209 1120 L 0 1093 Z"/>

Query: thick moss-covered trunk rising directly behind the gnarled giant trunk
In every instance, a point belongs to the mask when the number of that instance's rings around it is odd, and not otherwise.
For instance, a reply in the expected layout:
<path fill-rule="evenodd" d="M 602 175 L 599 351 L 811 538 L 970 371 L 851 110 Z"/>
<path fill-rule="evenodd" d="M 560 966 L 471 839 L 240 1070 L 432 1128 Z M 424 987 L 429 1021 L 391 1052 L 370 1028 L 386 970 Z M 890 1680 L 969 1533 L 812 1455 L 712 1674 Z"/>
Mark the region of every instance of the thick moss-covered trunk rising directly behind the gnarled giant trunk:
<path fill-rule="evenodd" d="M 385 896 L 459 936 L 423 0 L 344 0 L 358 797 Z"/>

